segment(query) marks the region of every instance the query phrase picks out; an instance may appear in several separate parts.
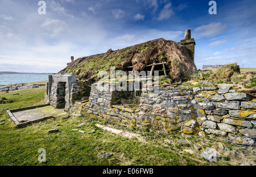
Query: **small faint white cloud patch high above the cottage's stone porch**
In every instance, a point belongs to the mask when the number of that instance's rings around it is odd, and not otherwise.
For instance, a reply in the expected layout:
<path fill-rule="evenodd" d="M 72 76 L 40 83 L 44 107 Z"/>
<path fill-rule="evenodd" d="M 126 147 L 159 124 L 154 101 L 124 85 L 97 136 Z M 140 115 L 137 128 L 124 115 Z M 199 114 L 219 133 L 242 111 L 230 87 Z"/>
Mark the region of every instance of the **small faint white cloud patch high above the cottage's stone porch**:
<path fill-rule="evenodd" d="M 45 35 L 48 35 L 52 38 L 59 36 L 60 33 L 67 27 L 67 24 L 59 19 L 46 19 L 44 23 L 41 24 L 41 27 L 49 31 L 50 33 L 46 32 Z"/>

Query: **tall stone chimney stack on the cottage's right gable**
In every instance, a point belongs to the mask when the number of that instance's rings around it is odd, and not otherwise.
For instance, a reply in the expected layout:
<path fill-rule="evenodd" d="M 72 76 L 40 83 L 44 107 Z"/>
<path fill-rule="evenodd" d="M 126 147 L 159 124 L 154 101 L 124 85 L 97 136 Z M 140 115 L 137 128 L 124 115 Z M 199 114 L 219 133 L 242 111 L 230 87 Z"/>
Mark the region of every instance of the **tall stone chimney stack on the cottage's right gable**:
<path fill-rule="evenodd" d="M 193 62 L 195 63 L 195 45 L 196 42 L 191 39 L 191 29 L 185 31 L 184 40 L 180 41 L 181 45 L 184 45 L 188 49 L 189 56 L 191 56 Z"/>

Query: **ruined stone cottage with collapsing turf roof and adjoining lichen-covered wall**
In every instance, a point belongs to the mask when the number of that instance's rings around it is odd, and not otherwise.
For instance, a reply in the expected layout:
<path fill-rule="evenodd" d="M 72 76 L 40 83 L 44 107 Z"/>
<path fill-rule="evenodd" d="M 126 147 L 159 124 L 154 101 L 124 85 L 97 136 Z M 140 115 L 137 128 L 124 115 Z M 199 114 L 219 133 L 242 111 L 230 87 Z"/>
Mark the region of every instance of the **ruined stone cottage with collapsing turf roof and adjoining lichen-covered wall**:
<path fill-rule="evenodd" d="M 249 95 L 230 86 L 178 88 L 154 82 L 153 71 L 175 83 L 195 73 L 195 45 L 187 30 L 180 43 L 157 39 L 76 60 L 72 57 L 65 69 L 49 75 L 46 102 L 109 124 L 166 133 L 212 133 L 238 144 L 255 144 L 256 103 Z M 146 71 L 152 82 L 139 85 L 137 92 L 118 90 L 111 79 L 98 78 L 101 71 L 111 74 L 111 66 L 114 74 L 117 70 L 132 73 L 127 82 L 133 83 L 136 71 Z"/>

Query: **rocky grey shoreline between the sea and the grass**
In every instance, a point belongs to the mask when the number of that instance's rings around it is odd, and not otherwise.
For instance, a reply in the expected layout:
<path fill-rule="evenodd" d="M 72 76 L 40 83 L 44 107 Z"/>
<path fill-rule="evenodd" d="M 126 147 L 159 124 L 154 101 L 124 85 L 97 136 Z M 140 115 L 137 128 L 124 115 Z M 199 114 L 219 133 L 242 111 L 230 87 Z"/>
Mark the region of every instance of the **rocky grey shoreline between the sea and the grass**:
<path fill-rule="evenodd" d="M 29 85 L 25 85 L 22 83 L 15 83 L 15 84 L 11 84 L 11 85 L 0 86 L 0 92 L 24 90 L 24 89 L 28 89 L 28 88 L 38 88 L 38 87 L 44 87 L 44 86 L 45 85 L 38 85 L 38 84 L 34 84 L 34 83 L 31 83 Z"/>

